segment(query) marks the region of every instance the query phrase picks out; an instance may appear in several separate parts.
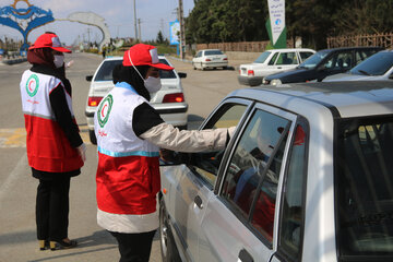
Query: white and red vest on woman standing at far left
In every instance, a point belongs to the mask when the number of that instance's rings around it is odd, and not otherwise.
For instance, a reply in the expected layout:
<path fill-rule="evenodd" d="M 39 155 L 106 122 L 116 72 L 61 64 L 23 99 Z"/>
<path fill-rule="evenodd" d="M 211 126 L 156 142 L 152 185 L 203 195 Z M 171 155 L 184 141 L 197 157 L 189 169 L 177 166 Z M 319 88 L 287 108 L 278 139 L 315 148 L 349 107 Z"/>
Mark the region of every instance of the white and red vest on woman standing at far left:
<path fill-rule="evenodd" d="M 28 165 L 48 172 L 67 172 L 81 168 L 83 160 L 76 148 L 70 145 L 50 106 L 50 92 L 55 88 L 64 88 L 61 81 L 52 75 L 26 70 L 20 87 L 27 133 Z M 66 88 L 64 93 L 73 117 L 71 96 Z"/>

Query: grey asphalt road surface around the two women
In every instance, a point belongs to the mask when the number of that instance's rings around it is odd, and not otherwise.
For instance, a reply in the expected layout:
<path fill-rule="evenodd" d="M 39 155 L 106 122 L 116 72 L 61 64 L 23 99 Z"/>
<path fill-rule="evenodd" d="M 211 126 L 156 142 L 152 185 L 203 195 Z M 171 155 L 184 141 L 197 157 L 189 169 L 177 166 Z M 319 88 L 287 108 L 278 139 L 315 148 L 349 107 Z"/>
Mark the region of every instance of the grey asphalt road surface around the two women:
<path fill-rule="evenodd" d="M 20 79 L 27 62 L 0 66 L 0 262 L 108 262 L 118 261 L 114 238 L 96 224 L 95 170 L 96 146 L 88 141 L 84 107 L 88 92 L 85 75 L 93 74 L 100 56 L 71 53 L 74 60 L 67 71 L 73 86 L 73 109 L 84 142 L 87 160 L 82 174 L 71 180 L 69 237 L 78 248 L 39 251 L 35 231 L 35 195 L 37 180 L 32 178 L 25 148 L 24 120 L 21 110 Z M 195 129 L 214 107 L 231 91 L 240 88 L 237 70 L 194 71 L 191 63 L 169 58 L 182 80 L 189 103 L 189 129 Z M 243 61 L 229 61 L 235 69 Z M 153 242 L 151 261 L 160 260 L 159 237 Z"/>

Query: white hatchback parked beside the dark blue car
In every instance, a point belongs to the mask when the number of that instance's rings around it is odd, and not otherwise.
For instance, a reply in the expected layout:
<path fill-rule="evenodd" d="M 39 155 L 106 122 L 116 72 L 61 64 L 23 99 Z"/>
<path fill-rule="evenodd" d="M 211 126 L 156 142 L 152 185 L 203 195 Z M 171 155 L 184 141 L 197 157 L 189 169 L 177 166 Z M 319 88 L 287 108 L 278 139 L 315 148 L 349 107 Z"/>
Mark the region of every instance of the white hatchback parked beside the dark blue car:
<path fill-rule="evenodd" d="M 243 85 L 260 85 L 264 76 L 294 69 L 314 52 L 307 48 L 266 50 L 253 63 L 240 64 L 238 81 Z"/>

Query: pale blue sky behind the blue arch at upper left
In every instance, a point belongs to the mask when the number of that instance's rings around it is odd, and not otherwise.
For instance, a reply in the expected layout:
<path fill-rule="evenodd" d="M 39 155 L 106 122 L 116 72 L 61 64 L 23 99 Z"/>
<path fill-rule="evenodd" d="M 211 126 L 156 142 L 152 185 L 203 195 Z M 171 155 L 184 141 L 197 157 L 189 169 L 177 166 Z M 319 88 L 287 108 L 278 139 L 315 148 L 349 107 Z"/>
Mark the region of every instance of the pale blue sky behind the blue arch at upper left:
<path fill-rule="evenodd" d="M 24 0 L 0 0 L 0 8 L 14 4 L 16 8 L 27 7 Z M 32 5 L 48 10 L 55 19 L 67 19 L 74 12 L 93 12 L 104 17 L 111 37 L 134 37 L 133 0 L 28 0 Z M 176 8 L 179 0 L 135 0 L 136 19 L 141 20 L 142 40 L 155 39 L 159 31 L 169 38 L 169 22 L 177 17 Z M 191 12 L 193 0 L 183 0 L 184 16 Z M 67 45 L 76 39 L 100 41 L 102 33 L 94 26 L 75 22 L 56 21 L 40 26 L 28 35 L 33 41 L 44 32 L 51 31 L 58 34 L 60 40 Z M 0 25 L 0 39 L 3 37 L 23 39 L 22 34 L 8 26 Z"/>

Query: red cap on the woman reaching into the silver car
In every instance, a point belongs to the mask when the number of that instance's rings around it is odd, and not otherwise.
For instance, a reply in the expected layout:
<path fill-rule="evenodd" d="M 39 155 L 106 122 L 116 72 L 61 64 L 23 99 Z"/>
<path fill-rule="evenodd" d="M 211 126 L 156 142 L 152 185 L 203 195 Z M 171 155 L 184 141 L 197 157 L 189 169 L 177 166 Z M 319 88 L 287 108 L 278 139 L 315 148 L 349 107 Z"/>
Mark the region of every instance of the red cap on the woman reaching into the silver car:
<path fill-rule="evenodd" d="M 123 66 L 151 66 L 166 71 L 174 70 L 172 67 L 159 62 L 157 48 L 145 44 L 136 44 L 124 51 Z"/>

